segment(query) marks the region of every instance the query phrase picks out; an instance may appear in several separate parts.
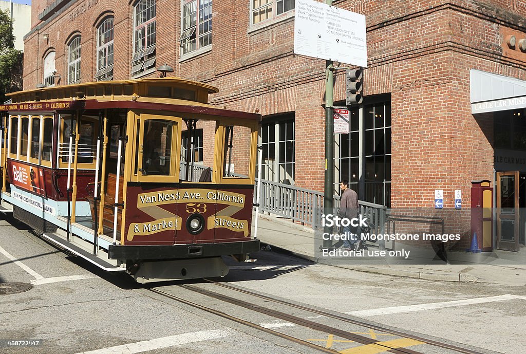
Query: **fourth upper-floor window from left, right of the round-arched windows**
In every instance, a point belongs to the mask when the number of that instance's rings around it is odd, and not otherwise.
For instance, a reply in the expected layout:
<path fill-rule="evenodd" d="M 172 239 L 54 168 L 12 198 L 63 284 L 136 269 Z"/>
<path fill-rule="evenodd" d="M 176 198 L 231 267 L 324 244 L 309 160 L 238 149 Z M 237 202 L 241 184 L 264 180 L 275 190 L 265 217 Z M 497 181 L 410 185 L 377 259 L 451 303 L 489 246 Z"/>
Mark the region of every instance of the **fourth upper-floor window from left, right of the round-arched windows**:
<path fill-rule="evenodd" d="M 155 0 L 139 0 L 134 6 L 134 46 L 131 77 L 155 71 Z"/>

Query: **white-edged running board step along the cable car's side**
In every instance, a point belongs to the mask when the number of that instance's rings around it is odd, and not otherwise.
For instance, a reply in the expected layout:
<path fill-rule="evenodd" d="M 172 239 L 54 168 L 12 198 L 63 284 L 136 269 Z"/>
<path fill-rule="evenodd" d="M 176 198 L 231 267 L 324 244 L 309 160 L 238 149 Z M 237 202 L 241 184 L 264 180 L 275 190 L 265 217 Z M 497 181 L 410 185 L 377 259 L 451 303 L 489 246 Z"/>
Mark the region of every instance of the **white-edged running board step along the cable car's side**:
<path fill-rule="evenodd" d="M 125 271 L 125 267 L 117 266 L 117 261 L 113 259 L 103 259 L 99 256 L 94 256 L 92 252 L 86 250 L 86 248 L 91 247 L 93 249 L 93 244 L 90 242 L 84 241 L 78 237 L 73 236 L 72 242 L 66 240 L 65 236 L 57 232 L 46 232 L 42 235 L 44 238 L 52 242 L 53 244 L 65 248 L 73 254 L 84 258 L 88 262 L 94 264 L 95 266 L 104 269 L 106 271 Z M 84 246 L 84 247 L 83 247 Z M 89 248 L 88 248 L 89 249 Z M 106 252 L 100 252 L 100 255 L 107 257 Z"/>

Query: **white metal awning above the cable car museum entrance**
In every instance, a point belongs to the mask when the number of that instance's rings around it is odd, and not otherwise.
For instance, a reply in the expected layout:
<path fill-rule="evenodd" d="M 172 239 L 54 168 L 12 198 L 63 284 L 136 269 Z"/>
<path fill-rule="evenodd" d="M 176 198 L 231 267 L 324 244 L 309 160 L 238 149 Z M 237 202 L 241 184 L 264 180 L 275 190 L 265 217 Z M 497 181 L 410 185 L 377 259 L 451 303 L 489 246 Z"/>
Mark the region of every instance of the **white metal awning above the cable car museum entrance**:
<path fill-rule="evenodd" d="M 471 113 L 526 108 L 526 81 L 470 70 Z"/>

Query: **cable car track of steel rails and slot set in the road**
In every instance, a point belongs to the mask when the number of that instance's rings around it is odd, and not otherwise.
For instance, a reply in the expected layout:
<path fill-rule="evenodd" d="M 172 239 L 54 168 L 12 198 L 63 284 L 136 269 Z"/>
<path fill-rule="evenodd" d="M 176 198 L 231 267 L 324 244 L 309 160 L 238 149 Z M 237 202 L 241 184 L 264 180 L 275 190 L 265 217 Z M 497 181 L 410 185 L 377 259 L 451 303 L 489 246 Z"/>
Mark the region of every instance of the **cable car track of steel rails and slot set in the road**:
<path fill-rule="evenodd" d="M 275 299 L 275 298 L 272 298 L 272 297 L 269 297 L 269 296 L 257 294 L 255 292 L 252 292 L 252 291 L 249 291 L 249 290 L 238 289 L 236 287 L 232 287 L 232 286 L 229 286 L 229 285 L 226 285 L 226 284 L 222 284 L 222 283 L 219 283 L 219 282 L 215 282 L 215 281 L 212 281 L 212 280 L 208 280 L 208 279 L 206 279 L 206 280 L 211 282 L 211 283 L 213 283 L 213 284 L 215 284 L 215 285 L 217 285 L 217 286 L 221 286 L 221 287 L 227 288 L 229 290 L 239 291 L 239 292 L 242 292 L 242 293 L 244 293 L 246 295 L 255 296 L 255 297 L 258 297 L 260 299 L 267 300 L 267 301 L 273 301 L 273 302 L 276 302 L 278 304 L 289 306 L 289 307 L 296 308 L 296 309 L 300 309 L 300 310 L 303 310 L 303 311 L 317 313 L 318 315 L 322 315 L 322 316 L 325 316 L 325 317 L 328 317 L 328 318 L 337 319 L 337 320 L 339 320 L 341 322 L 351 323 L 353 325 L 365 327 L 365 328 L 368 328 L 368 329 L 373 329 L 373 330 L 386 332 L 386 333 L 389 333 L 391 335 L 399 336 L 399 337 L 406 338 L 406 339 L 412 339 L 414 341 L 419 341 L 419 342 L 422 342 L 422 344 L 427 344 L 427 345 L 430 345 L 430 346 L 433 346 L 433 347 L 440 347 L 440 348 L 443 348 L 443 349 L 452 350 L 454 352 L 464 353 L 464 354 L 484 354 L 484 353 L 479 352 L 479 351 L 474 351 L 474 350 L 470 350 L 470 349 L 466 349 L 466 348 L 461 348 L 461 347 L 458 347 L 458 346 L 450 345 L 448 343 L 442 343 L 442 342 L 435 341 L 435 340 L 429 340 L 429 339 L 426 339 L 426 338 L 422 338 L 422 337 L 418 337 L 418 336 L 414 336 L 414 335 L 409 335 L 408 333 L 404 333 L 404 332 L 401 332 L 401 331 L 396 331 L 396 330 L 392 330 L 392 329 L 388 329 L 388 328 L 383 328 L 381 326 L 371 325 L 370 323 L 367 323 L 367 322 L 362 322 L 362 321 L 359 321 L 359 320 L 352 320 L 352 319 L 349 319 L 349 318 L 346 318 L 346 317 L 343 317 L 343 316 L 334 315 L 332 313 L 328 313 L 328 312 L 321 311 L 321 310 L 318 310 L 318 309 L 312 309 L 312 308 L 309 308 L 307 306 L 292 304 L 292 303 L 284 301 L 284 300 Z M 327 333 L 328 335 L 333 335 L 333 336 L 337 336 L 337 337 L 340 337 L 340 338 L 345 338 L 345 339 L 347 339 L 349 341 L 354 341 L 354 342 L 360 343 L 363 346 L 374 345 L 377 348 L 380 347 L 380 348 L 384 349 L 383 350 L 384 352 L 390 352 L 390 353 L 395 353 L 395 354 L 424 354 L 424 353 L 422 353 L 420 351 L 416 351 L 416 350 L 412 350 L 412 349 L 408 349 L 408 348 L 404 348 L 404 347 L 395 347 L 395 348 L 393 348 L 393 347 L 391 347 L 389 345 L 383 344 L 380 340 L 377 340 L 377 339 L 368 338 L 368 337 L 365 337 L 365 336 L 358 335 L 356 333 L 349 332 L 347 330 L 342 330 L 342 329 L 338 329 L 338 328 L 331 327 L 331 326 L 328 326 L 328 325 L 323 325 L 322 323 L 310 321 L 310 320 L 305 319 L 305 318 L 300 318 L 300 317 L 291 315 L 290 313 L 281 312 L 281 311 L 278 311 L 278 310 L 275 310 L 275 309 L 271 309 L 271 308 L 268 308 L 268 307 L 264 307 L 264 306 L 259 306 L 259 305 L 253 304 L 251 302 L 247 302 L 247 301 L 236 299 L 236 298 L 224 295 L 224 294 L 220 294 L 220 293 L 215 292 L 215 291 L 201 289 L 201 288 L 199 288 L 197 286 L 194 286 L 194 285 L 179 285 L 178 287 L 184 288 L 186 290 L 190 290 L 190 291 L 193 291 L 193 292 L 196 292 L 196 293 L 204 295 L 206 297 L 210 297 L 210 298 L 214 298 L 214 299 L 218 299 L 218 300 L 227 302 L 228 304 L 231 304 L 231 305 L 236 305 L 236 306 L 239 306 L 239 307 L 251 310 L 251 311 L 255 311 L 255 312 L 261 313 L 263 315 L 267 315 L 267 316 L 271 316 L 271 317 L 278 318 L 278 319 L 281 319 L 281 320 L 285 320 L 287 322 L 294 323 L 295 325 L 298 325 L 298 326 L 302 326 L 302 327 L 309 328 L 309 329 L 312 329 L 312 330 L 315 330 L 315 331 Z M 181 303 L 183 303 L 185 305 L 188 305 L 188 306 L 191 306 L 191 307 L 194 307 L 194 308 L 198 308 L 198 309 L 206 311 L 208 313 L 213 313 L 214 315 L 220 316 L 222 318 L 225 318 L 225 319 L 228 319 L 228 320 L 240 323 L 242 325 L 254 328 L 254 329 L 262 331 L 262 332 L 269 333 L 271 335 L 274 335 L 274 336 L 277 336 L 277 337 L 280 337 L 280 338 L 283 338 L 283 339 L 286 339 L 286 340 L 289 340 L 289 341 L 292 341 L 292 342 L 295 342 L 295 343 L 298 343 L 298 344 L 303 345 L 303 346 L 310 347 L 312 349 L 315 349 L 315 350 L 318 350 L 318 351 L 321 351 L 321 352 L 332 353 L 332 354 L 339 353 L 336 350 L 316 345 L 316 344 L 314 344 L 312 342 L 309 342 L 307 340 L 303 340 L 303 339 L 300 339 L 300 338 L 297 338 L 297 337 L 293 337 L 293 336 L 287 335 L 286 333 L 282 333 L 282 332 L 279 332 L 279 331 L 276 331 L 276 330 L 273 330 L 273 329 L 270 329 L 270 328 L 262 327 L 261 325 L 258 325 L 257 323 L 254 323 L 254 322 L 251 322 L 251 321 L 239 318 L 239 317 L 235 317 L 233 315 L 230 315 L 229 313 L 220 311 L 218 309 L 214 309 L 214 308 L 210 308 L 210 307 L 207 307 L 207 306 L 204 306 L 204 305 L 197 304 L 197 302 L 194 302 L 192 300 L 184 299 L 184 298 L 181 298 L 181 297 L 173 295 L 173 294 L 168 294 L 167 292 L 165 292 L 163 290 L 160 290 L 160 289 L 157 289 L 157 288 L 149 288 L 148 290 L 153 291 L 156 294 L 159 294 L 161 296 L 164 296 L 164 297 L 176 300 L 178 302 L 181 302 Z"/>

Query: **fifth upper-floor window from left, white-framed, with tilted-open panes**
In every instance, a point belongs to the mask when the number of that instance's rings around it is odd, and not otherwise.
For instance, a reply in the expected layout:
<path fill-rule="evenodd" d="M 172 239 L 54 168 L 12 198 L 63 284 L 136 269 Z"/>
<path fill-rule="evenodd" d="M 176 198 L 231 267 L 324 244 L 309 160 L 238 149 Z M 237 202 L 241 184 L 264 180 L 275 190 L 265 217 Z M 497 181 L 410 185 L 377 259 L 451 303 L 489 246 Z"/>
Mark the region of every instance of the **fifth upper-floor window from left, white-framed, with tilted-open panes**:
<path fill-rule="evenodd" d="M 185 13 L 193 5 L 195 12 Z M 181 1 L 181 35 L 179 46 L 181 59 L 187 59 L 211 50 L 213 0 Z"/>

